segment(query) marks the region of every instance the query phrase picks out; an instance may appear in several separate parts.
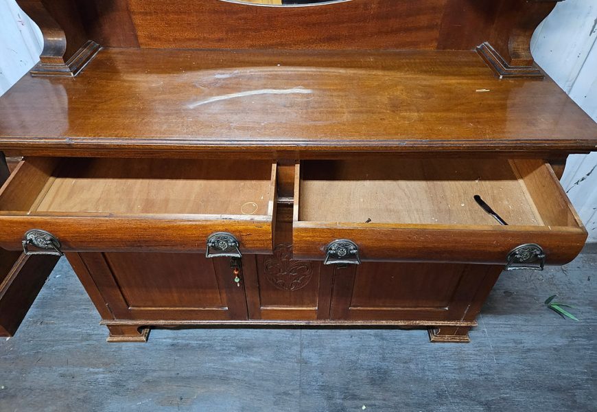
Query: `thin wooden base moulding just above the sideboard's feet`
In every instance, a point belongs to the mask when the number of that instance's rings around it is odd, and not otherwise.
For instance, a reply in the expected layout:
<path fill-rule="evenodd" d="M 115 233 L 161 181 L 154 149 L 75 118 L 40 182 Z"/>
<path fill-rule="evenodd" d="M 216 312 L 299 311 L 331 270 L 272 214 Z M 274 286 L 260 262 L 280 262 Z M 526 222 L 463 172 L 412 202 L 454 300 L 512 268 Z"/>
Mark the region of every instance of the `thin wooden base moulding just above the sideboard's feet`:
<path fill-rule="evenodd" d="M 281 320 L 248 320 L 248 321 L 190 321 L 190 320 L 103 320 L 100 325 L 139 325 L 149 326 L 336 326 L 336 327 L 359 327 L 359 326 L 397 326 L 404 328 L 417 328 L 424 326 L 476 326 L 476 321 L 336 321 L 336 320 L 306 320 L 306 321 L 281 321 Z"/>

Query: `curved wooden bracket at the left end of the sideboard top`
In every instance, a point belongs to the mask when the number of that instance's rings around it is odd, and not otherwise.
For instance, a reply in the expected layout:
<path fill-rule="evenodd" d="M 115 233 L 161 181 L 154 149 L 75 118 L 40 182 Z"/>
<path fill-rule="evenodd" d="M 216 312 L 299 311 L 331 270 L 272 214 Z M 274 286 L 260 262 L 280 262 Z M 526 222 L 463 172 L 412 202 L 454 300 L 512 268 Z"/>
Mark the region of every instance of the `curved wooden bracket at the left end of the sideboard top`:
<path fill-rule="evenodd" d="M 32 76 L 77 76 L 100 50 L 87 38 L 71 0 L 17 0 L 43 35 L 40 62 Z"/>

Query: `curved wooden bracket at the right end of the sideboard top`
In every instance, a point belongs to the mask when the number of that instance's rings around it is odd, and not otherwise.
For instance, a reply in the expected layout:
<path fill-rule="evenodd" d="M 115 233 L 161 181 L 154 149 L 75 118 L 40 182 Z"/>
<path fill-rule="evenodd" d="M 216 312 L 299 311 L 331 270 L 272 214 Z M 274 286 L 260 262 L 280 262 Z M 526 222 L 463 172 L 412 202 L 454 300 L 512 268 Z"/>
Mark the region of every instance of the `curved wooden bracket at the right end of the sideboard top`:
<path fill-rule="evenodd" d="M 477 52 L 500 78 L 543 78 L 530 54 L 537 26 L 563 0 L 502 0 L 489 42 Z"/>

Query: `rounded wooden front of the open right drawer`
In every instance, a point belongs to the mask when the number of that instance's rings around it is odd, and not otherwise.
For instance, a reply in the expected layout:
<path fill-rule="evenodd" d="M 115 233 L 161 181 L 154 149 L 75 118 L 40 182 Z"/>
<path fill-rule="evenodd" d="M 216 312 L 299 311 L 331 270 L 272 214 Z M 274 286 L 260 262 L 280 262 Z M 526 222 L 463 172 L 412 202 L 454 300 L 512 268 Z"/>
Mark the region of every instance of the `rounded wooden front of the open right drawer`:
<path fill-rule="evenodd" d="M 294 258 L 325 260 L 327 245 L 349 239 L 361 260 L 406 262 L 477 262 L 506 264 L 510 251 L 522 244 L 541 246 L 547 264 L 565 264 L 583 249 L 584 231 L 497 231 L 491 228 L 334 227 L 295 225 Z"/>

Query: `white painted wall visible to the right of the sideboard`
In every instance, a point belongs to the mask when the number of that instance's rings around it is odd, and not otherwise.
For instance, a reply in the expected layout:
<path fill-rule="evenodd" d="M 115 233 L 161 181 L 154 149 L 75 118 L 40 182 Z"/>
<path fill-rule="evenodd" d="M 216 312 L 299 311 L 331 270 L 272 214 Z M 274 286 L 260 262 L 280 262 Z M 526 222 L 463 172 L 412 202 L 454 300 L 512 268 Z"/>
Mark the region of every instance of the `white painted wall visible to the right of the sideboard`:
<path fill-rule="evenodd" d="M 539 66 L 597 122 L 597 1 L 558 3 L 530 45 Z M 561 183 L 597 242 L 597 152 L 570 156 Z"/>

